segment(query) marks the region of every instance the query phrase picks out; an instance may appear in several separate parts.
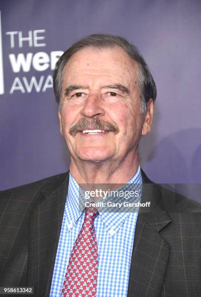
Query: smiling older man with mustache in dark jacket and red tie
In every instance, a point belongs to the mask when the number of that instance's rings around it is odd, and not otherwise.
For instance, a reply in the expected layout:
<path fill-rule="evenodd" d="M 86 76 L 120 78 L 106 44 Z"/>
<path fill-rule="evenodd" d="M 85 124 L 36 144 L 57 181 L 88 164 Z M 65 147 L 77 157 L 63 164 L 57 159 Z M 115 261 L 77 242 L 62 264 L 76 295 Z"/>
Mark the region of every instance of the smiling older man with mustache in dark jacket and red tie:
<path fill-rule="evenodd" d="M 138 50 L 115 35 L 82 38 L 60 57 L 54 89 L 70 172 L 1 193 L 0 285 L 35 296 L 201 296 L 200 206 L 139 167 L 156 87 Z M 79 184 L 142 182 L 151 211 L 80 212 Z"/>

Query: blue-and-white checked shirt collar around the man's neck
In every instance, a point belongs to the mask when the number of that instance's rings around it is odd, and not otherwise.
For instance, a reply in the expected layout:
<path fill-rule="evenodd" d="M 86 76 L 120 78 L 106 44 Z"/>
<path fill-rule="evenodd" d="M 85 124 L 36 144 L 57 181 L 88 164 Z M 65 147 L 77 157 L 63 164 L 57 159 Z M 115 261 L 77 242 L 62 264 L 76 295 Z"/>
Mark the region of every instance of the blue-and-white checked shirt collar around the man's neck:
<path fill-rule="evenodd" d="M 126 186 L 129 184 L 142 184 L 142 175 L 140 166 L 137 169 L 135 175 L 127 182 Z M 135 200 L 135 202 L 140 201 L 141 195 Z M 73 176 L 70 173 L 69 176 L 69 186 L 68 186 L 68 195 L 66 199 L 64 215 L 67 220 L 67 229 L 71 230 L 79 219 L 81 214 L 84 211 L 84 207 L 79 209 L 79 185 L 73 179 Z M 139 209 L 136 210 L 139 212 Z M 122 226 L 124 221 L 127 219 L 130 212 L 100 212 L 99 215 L 106 227 L 106 230 L 109 232 L 110 236 L 113 236 Z"/>

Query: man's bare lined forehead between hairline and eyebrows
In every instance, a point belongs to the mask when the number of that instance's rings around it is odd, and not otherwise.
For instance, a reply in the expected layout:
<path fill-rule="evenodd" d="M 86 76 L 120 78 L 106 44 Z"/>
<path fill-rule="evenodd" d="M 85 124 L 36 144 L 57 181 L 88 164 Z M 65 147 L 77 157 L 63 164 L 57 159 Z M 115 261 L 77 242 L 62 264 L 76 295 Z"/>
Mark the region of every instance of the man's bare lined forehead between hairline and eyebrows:
<path fill-rule="evenodd" d="M 133 61 L 124 51 L 120 49 L 118 56 L 113 55 L 113 49 L 103 50 L 103 53 L 106 52 L 110 55 L 111 59 L 109 61 L 109 65 L 106 63 L 104 59 L 104 55 L 100 53 L 99 50 L 90 49 L 90 54 L 88 57 L 83 55 L 86 49 L 81 49 L 77 53 L 75 53 L 72 58 L 67 62 L 64 66 L 63 79 L 68 84 L 86 84 L 86 80 L 84 79 L 84 75 L 92 75 L 94 77 L 98 76 L 108 76 L 111 77 L 107 82 L 109 84 L 122 84 L 125 85 L 125 74 L 127 73 L 129 83 L 126 83 L 127 87 L 134 86 L 135 82 L 138 81 L 138 65 L 135 61 Z M 119 48 L 117 48 L 119 49 Z M 101 55 L 100 59 L 99 53 Z M 115 53 L 115 51 L 114 51 Z M 87 52 L 88 55 L 88 52 Z M 107 58 L 107 56 L 106 56 Z M 84 59 L 84 60 L 83 60 Z M 98 65 L 100 61 L 100 64 Z M 102 62 L 101 62 L 102 61 Z M 89 64 L 89 66 L 87 66 Z M 103 65 L 101 65 L 103 64 Z M 81 83 L 78 82 L 77 78 L 83 76 L 83 79 L 78 79 Z M 116 77 L 115 77 L 116 76 Z M 74 80 L 75 78 L 75 80 Z M 119 80 L 118 80 L 119 78 Z M 70 79 L 70 80 L 69 80 Z M 127 81 L 128 81 L 127 80 Z M 75 83 L 74 83 L 74 82 Z M 73 83 L 72 83 L 73 82 Z M 64 83 L 65 84 L 65 83 Z M 105 83 L 106 84 L 106 83 Z M 108 83 L 107 83 L 108 84 Z M 87 84 L 88 85 L 88 84 Z"/>

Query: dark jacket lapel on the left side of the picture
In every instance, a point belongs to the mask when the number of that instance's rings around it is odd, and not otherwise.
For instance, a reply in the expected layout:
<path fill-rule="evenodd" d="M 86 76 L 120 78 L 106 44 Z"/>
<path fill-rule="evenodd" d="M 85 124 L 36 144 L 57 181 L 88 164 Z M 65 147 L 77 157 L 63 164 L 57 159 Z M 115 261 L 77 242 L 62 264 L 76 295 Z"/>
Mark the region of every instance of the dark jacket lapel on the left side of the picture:
<path fill-rule="evenodd" d="M 68 176 L 52 194 L 43 192 L 45 199 L 31 218 L 28 285 L 34 287 L 37 296 L 50 294 L 67 190 Z"/>

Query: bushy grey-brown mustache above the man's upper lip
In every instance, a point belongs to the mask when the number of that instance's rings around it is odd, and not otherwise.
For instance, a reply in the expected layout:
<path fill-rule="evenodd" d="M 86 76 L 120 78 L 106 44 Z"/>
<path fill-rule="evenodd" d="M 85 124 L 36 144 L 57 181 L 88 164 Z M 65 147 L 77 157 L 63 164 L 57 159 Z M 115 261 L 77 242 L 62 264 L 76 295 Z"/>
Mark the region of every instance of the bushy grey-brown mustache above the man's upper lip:
<path fill-rule="evenodd" d="M 81 120 L 79 120 L 78 123 L 72 125 L 72 127 L 69 129 L 69 133 L 72 136 L 75 136 L 78 131 L 86 130 L 89 127 L 92 127 L 98 130 L 111 131 L 111 132 L 114 132 L 115 134 L 119 132 L 119 128 L 115 123 L 102 121 L 100 119 L 82 118 Z"/>

